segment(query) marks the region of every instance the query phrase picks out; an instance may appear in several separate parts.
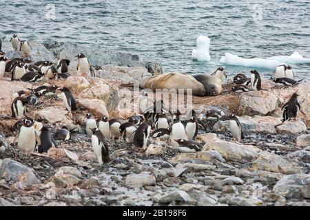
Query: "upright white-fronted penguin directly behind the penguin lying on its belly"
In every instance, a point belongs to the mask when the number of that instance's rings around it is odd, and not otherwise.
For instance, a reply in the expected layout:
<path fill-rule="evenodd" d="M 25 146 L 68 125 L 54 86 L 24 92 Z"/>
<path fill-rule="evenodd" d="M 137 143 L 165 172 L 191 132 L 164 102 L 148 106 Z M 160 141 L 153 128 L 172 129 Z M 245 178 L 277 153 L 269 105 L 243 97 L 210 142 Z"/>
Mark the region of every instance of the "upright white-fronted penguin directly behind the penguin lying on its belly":
<path fill-rule="evenodd" d="M 180 121 L 180 111 L 176 110 L 173 114 L 173 124 L 170 132 L 170 143 L 172 146 L 178 146 L 178 142 L 176 140 L 183 139 L 189 140 L 188 134 L 185 131 L 185 127 L 183 123 Z"/>

